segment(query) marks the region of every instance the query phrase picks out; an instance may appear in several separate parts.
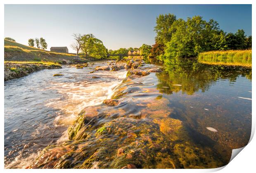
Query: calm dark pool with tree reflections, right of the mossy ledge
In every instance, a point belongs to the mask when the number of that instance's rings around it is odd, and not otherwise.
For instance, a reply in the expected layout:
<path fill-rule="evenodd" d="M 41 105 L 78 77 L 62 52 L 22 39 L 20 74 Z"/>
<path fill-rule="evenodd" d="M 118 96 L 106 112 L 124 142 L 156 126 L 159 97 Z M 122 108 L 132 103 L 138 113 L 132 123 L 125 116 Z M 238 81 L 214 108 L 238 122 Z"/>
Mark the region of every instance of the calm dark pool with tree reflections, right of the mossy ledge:
<path fill-rule="evenodd" d="M 235 149 L 247 145 L 251 134 L 251 75 L 248 68 L 185 59 L 156 74 L 157 89 L 170 101 L 171 117 Z"/>

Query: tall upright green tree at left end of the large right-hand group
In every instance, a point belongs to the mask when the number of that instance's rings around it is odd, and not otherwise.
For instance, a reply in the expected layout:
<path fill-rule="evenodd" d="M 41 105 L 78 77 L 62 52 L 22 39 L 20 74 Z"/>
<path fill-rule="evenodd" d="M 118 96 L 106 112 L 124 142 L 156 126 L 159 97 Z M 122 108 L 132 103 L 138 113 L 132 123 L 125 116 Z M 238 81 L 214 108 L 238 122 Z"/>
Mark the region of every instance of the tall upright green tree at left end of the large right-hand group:
<path fill-rule="evenodd" d="M 154 31 L 156 32 L 156 42 L 166 44 L 171 40 L 174 32 L 174 30 L 171 30 L 171 26 L 175 21 L 176 16 L 170 13 L 165 15 L 160 14 L 156 18 L 156 26 L 154 27 Z"/>

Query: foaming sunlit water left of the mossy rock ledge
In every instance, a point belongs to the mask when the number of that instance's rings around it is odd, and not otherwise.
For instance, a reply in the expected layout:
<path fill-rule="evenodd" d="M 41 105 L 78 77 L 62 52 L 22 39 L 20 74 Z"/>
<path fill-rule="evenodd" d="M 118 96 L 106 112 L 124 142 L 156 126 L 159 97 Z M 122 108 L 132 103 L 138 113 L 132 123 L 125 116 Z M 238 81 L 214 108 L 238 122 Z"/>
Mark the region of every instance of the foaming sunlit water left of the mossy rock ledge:
<path fill-rule="evenodd" d="M 31 154 L 36 156 L 49 144 L 66 140 L 66 129 L 78 113 L 102 103 L 126 74 L 125 70 L 90 73 L 96 65 L 106 62 L 89 63 L 83 69 L 45 69 L 5 82 L 6 165 L 27 165 L 20 161 L 33 157 Z M 63 76 L 53 77 L 56 73 Z"/>

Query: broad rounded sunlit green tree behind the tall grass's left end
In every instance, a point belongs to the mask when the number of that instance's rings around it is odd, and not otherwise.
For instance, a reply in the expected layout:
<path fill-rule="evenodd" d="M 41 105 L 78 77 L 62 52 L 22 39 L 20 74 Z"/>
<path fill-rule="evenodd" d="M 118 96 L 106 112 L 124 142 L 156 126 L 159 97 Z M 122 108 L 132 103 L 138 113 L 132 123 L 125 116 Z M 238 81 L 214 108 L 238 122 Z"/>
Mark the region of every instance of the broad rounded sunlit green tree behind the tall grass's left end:
<path fill-rule="evenodd" d="M 216 49 L 214 47 L 220 49 L 220 44 L 226 44 L 223 35 L 217 37 L 221 33 L 218 23 L 213 20 L 207 22 L 201 16 L 187 18 L 187 21 L 178 19 L 171 30 L 175 32 L 166 44 L 167 57 L 197 57 L 202 51 Z"/>

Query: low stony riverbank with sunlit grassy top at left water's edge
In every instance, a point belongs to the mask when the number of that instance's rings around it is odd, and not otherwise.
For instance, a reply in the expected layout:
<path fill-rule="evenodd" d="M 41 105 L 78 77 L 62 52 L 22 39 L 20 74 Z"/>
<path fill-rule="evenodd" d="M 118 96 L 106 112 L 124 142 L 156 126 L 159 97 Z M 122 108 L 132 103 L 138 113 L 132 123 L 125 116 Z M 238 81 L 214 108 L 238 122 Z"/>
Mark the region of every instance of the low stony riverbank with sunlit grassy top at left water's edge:
<path fill-rule="evenodd" d="M 62 68 L 57 63 L 50 62 L 26 62 L 26 61 L 5 61 L 5 81 L 24 77 L 32 72 L 43 69 Z"/>

